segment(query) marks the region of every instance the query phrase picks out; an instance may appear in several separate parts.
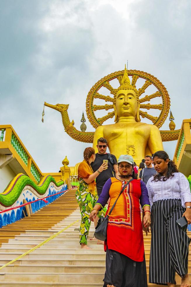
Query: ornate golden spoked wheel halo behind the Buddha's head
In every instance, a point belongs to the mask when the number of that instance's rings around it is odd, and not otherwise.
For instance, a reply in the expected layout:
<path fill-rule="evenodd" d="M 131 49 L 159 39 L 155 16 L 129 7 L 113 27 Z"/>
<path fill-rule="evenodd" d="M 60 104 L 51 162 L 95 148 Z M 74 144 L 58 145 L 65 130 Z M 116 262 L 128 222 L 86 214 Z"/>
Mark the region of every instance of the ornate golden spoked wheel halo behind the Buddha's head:
<path fill-rule="evenodd" d="M 124 70 L 111 73 L 105 76 L 104 78 L 101 78 L 90 89 L 86 98 L 86 114 L 89 122 L 95 129 L 100 125 L 102 125 L 108 119 L 114 117 L 113 102 L 114 102 L 115 88 L 112 87 L 112 81 L 114 79 L 117 79 L 119 81 L 119 84 L 121 85 L 123 74 Z M 140 117 L 149 119 L 158 128 L 162 127 L 170 110 L 170 97 L 165 86 L 156 77 L 144 71 L 129 70 L 128 76 L 132 77 L 131 85 L 133 87 L 136 87 L 136 83 L 139 78 L 145 80 L 144 84 L 138 89 L 139 102 L 140 102 Z M 151 85 L 155 90 L 154 93 L 143 96 L 145 90 Z M 108 95 L 103 95 L 99 93 L 102 87 L 105 87 L 107 89 Z M 162 99 L 162 103 L 160 104 L 148 103 L 150 102 L 150 100 L 157 97 Z M 100 99 L 102 105 L 96 105 L 94 103 L 95 99 Z M 103 101 L 108 102 L 109 104 L 107 103 L 105 104 Z M 147 110 L 150 109 L 161 111 L 160 115 L 158 117 L 150 115 L 147 112 Z M 98 110 L 105 110 L 105 111 L 111 110 L 111 111 L 107 112 L 107 114 L 104 115 L 103 117 L 97 118 L 95 112 Z"/>

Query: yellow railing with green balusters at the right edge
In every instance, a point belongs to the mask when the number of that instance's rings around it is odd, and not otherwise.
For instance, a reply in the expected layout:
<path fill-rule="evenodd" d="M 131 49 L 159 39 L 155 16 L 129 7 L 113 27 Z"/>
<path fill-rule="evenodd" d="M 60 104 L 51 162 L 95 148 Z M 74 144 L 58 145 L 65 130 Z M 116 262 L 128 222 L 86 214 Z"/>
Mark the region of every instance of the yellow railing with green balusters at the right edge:
<path fill-rule="evenodd" d="M 173 160 L 185 176 L 191 174 L 191 119 L 184 119 L 176 145 Z"/>

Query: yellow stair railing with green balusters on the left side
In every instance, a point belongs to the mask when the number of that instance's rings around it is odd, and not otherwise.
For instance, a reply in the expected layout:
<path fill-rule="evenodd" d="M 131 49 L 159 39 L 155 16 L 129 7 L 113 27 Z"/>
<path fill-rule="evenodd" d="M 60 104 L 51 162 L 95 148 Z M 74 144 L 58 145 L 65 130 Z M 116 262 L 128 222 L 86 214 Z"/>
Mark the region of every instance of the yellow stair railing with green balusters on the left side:
<path fill-rule="evenodd" d="M 0 154 L 12 154 L 26 175 L 34 182 L 41 180 L 42 172 L 11 125 L 0 125 Z"/>

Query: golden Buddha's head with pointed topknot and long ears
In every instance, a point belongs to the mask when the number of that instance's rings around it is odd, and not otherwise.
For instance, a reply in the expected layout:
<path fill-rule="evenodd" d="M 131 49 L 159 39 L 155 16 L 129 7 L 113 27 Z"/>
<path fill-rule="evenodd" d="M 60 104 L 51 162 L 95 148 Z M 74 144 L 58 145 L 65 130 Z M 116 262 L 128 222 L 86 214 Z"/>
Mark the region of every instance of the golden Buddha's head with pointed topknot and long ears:
<path fill-rule="evenodd" d="M 115 90 L 114 94 L 114 112 L 115 122 L 120 117 L 134 117 L 136 122 L 140 122 L 139 109 L 140 102 L 138 90 L 131 85 L 127 74 L 126 66 L 121 85 Z"/>

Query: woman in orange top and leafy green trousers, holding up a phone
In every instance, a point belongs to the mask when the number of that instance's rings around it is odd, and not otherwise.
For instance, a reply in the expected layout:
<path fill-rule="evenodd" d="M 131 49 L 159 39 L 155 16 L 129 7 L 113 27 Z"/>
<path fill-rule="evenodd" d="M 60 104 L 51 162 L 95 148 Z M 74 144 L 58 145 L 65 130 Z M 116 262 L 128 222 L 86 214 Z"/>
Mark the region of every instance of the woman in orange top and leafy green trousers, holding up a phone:
<path fill-rule="evenodd" d="M 97 171 L 93 172 L 91 163 L 95 160 L 95 150 L 93 148 L 85 148 L 84 160 L 78 167 L 79 186 L 76 192 L 76 199 L 81 212 L 80 224 L 80 245 L 81 248 L 87 247 L 87 239 L 91 221 L 89 215 L 98 200 L 95 178 L 107 168 L 107 163 L 103 163 Z M 99 212 L 98 216 L 105 216 L 106 208 Z"/>

